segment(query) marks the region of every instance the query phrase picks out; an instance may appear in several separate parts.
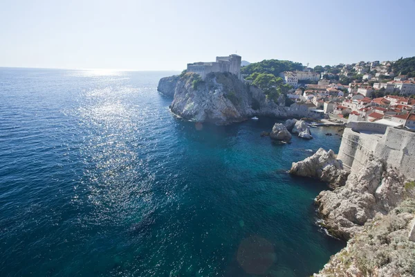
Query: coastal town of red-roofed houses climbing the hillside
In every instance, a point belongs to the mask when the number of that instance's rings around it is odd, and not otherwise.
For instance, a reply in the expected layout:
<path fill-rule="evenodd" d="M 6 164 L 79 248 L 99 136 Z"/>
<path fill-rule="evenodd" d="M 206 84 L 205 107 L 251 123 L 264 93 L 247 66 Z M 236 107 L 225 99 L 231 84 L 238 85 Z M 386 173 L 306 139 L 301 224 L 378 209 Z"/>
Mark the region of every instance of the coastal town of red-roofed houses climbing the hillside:
<path fill-rule="evenodd" d="M 308 111 L 304 116 L 343 122 L 376 121 L 414 129 L 415 99 L 412 97 L 415 95 L 415 78 L 397 75 L 393 80 L 382 80 L 382 73 L 383 76 L 394 76 L 393 72 L 388 72 L 389 67 L 389 62 L 367 62 L 353 67 L 345 65 L 338 74 L 323 72 L 320 76 L 306 68 L 304 71 L 284 72 L 280 76 L 284 82 L 296 88 L 287 97 L 295 101 L 291 107 L 304 107 Z M 349 75 L 351 69 L 364 73 L 364 80 L 353 80 L 347 85 L 335 82 L 336 76 L 341 78 L 342 75 Z M 367 71 L 380 73 L 372 75 Z M 326 79 L 327 76 L 331 79 Z M 299 80 L 317 81 L 317 84 L 302 84 Z"/>

